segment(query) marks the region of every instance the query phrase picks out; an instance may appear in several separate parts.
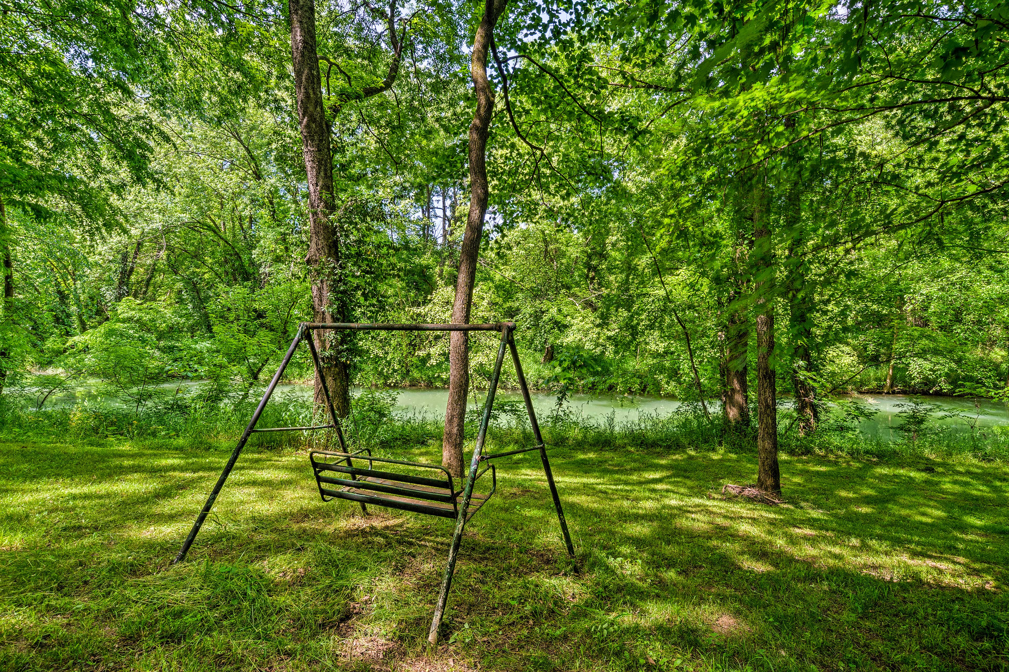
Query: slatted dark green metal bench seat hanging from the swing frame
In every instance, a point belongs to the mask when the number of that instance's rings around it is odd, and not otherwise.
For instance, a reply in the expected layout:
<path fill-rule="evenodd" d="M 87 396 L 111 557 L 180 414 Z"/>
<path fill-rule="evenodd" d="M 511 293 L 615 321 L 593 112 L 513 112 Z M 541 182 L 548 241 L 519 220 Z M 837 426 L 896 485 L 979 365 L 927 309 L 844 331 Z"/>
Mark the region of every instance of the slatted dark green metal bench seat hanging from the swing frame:
<path fill-rule="evenodd" d="M 366 453 L 366 454 L 365 454 Z M 336 458 L 332 460 L 332 458 Z M 458 520 L 459 506 L 462 504 L 462 491 L 456 490 L 452 475 L 448 469 L 436 464 L 423 464 L 401 459 L 373 457 L 371 450 L 363 448 L 356 452 L 334 452 L 329 450 L 313 450 L 309 453 L 316 484 L 319 486 L 319 496 L 323 502 L 332 500 L 350 500 L 362 505 L 372 504 L 389 509 L 412 511 L 414 513 L 440 518 Z M 355 464 L 367 461 L 368 468 Z M 436 474 L 431 477 L 414 476 L 375 469 L 374 462 L 400 464 L 404 466 L 430 469 Z M 470 496 L 466 510 L 468 522 L 477 511 L 490 499 L 497 489 L 497 475 L 493 464 L 484 467 L 476 475 L 479 481 L 490 472 L 490 490 L 486 493 L 476 493 Z"/>

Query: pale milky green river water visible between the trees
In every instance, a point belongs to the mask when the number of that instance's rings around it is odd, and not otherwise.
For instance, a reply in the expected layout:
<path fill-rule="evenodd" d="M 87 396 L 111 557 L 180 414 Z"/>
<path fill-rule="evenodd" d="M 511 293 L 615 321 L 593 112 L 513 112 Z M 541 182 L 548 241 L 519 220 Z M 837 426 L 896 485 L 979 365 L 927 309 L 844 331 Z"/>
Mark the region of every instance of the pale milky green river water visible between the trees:
<path fill-rule="evenodd" d="M 184 394 L 188 390 L 195 388 L 199 382 L 186 381 L 183 383 L 172 383 L 161 386 L 169 394 Z M 46 402 L 46 407 L 74 405 L 81 402 L 90 404 L 109 404 L 113 406 L 123 405 L 114 398 L 103 397 L 99 392 L 97 384 L 87 385 L 76 392 L 50 397 Z M 357 390 L 356 392 L 359 392 Z M 277 386 L 277 394 L 295 395 L 308 399 L 312 393 L 312 387 L 305 384 L 287 384 Z M 479 400 L 484 399 L 483 392 L 479 392 Z M 448 401 L 448 391 L 443 389 L 421 389 L 406 388 L 398 390 L 397 411 L 401 414 L 416 417 L 426 417 L 438 419 L 445 415 L 445 405 Z M 514 391 L 499 391 L 497 398 L 502 400 L 520 402 L 522 395 Z M 900 404 L 906 404 L 911 400 L 919 400 L 936 406 L 932 413 L 932 423 L 936 425 L 949 426 L 956 430 L 970 431 L 971 425 L 977 427 L 992 427 L 996 425 L 1009 425 L 1009 406 L 993 401 L 978 401 L 962 399 L 960 397 L 910 397 L 905 395 L 847 395 L 840 397 L 865 404 L 868 408 L 877 411 L 876 415 L 859 424 L 860 431 L 868 438 L 879 438 L 883 440 L 893 440 L 900 438 L 899 432 L 893 427 L 900 418 L 897 413 L 903 409 Z M 472 395 L 469 398 L 470 406 L 475 406 Z M 785 400 L 784 405 L 789 405 Z M 533 406 L 537 415 L 545 416 L 557 408 L 557 398 L 549 393 L 536 393 L 533 395 Z M 616 424 L 634 422 L 644 416 L 667 416 L 680 408 L 681 402 L 676 399 L 664 397 L 650 397 L 645 395 L 626 396 L 616 394 L 593 394 L 571 395 L 562 405 L 565 412 L 576 417 L 596 422 L 607 421 L 612 416 Z M 715 410 L 718 407 L 716 402 L 709 402 L 708 407 Z M 961 417 L 943 417 L 949 414 L 958 414 Z"/>

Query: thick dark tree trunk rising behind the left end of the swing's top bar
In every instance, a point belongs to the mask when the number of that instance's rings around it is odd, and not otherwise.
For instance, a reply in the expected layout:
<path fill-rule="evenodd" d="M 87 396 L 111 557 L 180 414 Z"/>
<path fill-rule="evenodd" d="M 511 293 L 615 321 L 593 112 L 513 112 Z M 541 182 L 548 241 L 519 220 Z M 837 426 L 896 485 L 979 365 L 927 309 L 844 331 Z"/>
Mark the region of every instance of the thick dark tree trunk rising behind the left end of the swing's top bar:
<path fill-rule="evenodd" d="M 338 288 L 336 269 L 340 245 L 332 217 L 336 196 L 333 191 L 333 159 L 330 156 L 329 124 L 322 96 L 322 76 L 316 47 L 315 1 L 290 0 L 291 54 L 294 59 L 298 122 L 302 132 L 302 154 L 309 185 L 309 253 L 306 262 L 312 279 L 313 319 L 341 321 L 334 314 Z M 339 308 L 336 308 L 338 311 Z M 323 402 L 322 377 L 326 379 L 333 405 L 340 417 L 350 411 L 350 367 L 331 333 L 313 333 L 322 371 L 316 372 L 315 400 Z"/>

